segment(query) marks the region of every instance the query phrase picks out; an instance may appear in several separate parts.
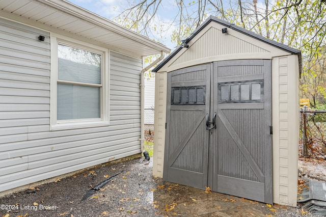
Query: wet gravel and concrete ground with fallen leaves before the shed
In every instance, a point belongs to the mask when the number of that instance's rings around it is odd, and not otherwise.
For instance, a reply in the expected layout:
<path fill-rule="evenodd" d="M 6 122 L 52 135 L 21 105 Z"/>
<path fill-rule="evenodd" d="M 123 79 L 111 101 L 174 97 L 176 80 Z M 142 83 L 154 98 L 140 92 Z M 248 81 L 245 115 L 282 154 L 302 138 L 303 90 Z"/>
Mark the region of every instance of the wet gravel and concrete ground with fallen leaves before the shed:
<path fill-rule="evenodd" d="M 151 159 L 152 160 L 152 159 Z M 165 182 L 152 161 L 133 159 L 97 167 L 0 198 L 0 216 L 301 216 L 301 208 Z M 117 175 L 118 174 L 118 175 Z M 116 176 L 115 176 L 116 175 Z M 99 191 L 90 191 L 115 176 Z M 88 193 L 88 194 L 87 194 Z M 84 198 L 84 200 L 83 200 Z M 3 206 L 5 205 L 5 206 Z M 310 216 L 306 214 L 305 216 Z"/>

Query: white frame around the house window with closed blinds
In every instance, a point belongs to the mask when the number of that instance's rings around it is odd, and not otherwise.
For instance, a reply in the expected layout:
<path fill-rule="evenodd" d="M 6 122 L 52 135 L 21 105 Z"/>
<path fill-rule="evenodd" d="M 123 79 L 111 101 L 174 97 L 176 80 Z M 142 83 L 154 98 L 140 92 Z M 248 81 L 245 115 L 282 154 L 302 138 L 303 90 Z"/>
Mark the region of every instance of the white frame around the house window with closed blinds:
<path fill-rule="evenodd" d="M 110 51 L 86 42 L 51 33 L 51 77 L 50 77 L 50 130 L 77 129 L 110 124 Z M 57 120 L 58 44 L 63 44 L 102 55 L 100 88 L 100 118 Z"/>

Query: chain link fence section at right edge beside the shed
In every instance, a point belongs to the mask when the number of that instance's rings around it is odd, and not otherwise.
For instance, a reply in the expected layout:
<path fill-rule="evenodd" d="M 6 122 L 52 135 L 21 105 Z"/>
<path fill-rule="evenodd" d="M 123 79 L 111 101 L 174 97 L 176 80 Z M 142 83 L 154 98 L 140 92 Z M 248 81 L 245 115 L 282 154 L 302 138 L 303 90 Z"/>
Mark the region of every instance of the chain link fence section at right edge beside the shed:
<path fill-rule="evenodd" d="M 326 157 L 326 111 L 300 111 L 303 156 Z"/>

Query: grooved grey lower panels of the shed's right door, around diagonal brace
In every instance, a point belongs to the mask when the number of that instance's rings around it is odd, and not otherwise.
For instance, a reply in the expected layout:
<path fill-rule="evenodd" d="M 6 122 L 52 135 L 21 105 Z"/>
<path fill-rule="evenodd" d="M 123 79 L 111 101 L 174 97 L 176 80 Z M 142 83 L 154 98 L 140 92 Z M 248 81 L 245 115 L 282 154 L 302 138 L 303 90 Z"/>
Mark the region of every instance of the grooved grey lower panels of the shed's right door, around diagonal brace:
<path fill-rule="evenodd" d="M 222 110 L 228 121 L 238 134 L 247 150 L 251 153 L 258 167 L 264 171 L 263 156 L 264 150 L 261 147 L 263 138 L 259 135 L 263 132 L 261 121 L 264 117 L 263 110 Z M 250 118 L 250 117 L 255 117 Z M 243 120 L 240 122 L 239 120 Z M 248 127 L 250 126 L 250 127 Z M 220 144 L 216 153 L 219 156 L 219 174 L 231 176 L 240 179 L 259 181 L 248 162 L 244 159 L 243 154 L 231 138 L 230 133 L 225 128 L 222 121 L 218 121 L 219 135 L 218 143 Z M 246 164 L 246 165 L 244 165 Z M 245 169 L 245 170 L 244 170 Z"/>

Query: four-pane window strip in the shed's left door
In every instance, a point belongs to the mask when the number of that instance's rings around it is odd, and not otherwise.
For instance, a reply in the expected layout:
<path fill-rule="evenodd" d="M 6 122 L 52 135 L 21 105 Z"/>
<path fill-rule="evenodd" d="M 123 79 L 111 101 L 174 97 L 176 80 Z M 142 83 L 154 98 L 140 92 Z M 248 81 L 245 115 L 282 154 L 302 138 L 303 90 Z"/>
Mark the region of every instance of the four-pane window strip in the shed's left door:
<path fill-rule="evenodd" d="M 205 86 L 172 87 L 172 105 L 205 104 Z"/>

